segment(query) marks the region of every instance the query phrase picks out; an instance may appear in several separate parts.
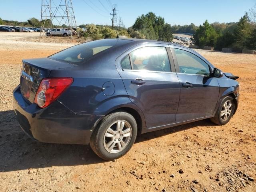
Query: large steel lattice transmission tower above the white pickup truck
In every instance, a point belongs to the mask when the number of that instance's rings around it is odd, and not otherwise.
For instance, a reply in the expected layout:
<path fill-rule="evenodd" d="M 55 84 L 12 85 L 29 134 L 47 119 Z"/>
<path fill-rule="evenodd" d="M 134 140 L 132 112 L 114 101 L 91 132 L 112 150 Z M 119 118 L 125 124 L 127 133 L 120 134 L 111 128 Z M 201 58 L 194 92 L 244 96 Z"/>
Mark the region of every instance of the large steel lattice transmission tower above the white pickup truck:
<path fill-rule="evenodd" d="M 76 18 L 72 0 L 42 0 L 40 37 L 44 35 L 42 29 L 68 28 L 72 40 L 72 28 L 76 28 Z M 79 35 L 78 35 L 79 37 Z"/>

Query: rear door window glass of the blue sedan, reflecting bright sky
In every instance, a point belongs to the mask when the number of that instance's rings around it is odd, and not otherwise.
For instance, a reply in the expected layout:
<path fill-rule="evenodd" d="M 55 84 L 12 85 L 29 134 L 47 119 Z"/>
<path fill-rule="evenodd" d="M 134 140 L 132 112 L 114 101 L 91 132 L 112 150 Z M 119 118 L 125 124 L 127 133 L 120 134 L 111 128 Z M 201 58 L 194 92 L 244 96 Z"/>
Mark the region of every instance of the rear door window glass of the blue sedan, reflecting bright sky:
<path fill-rule="evenodd" d="M 150 46 L 138 48 L 121 61 L 121 66 L 123 69 L 132 70 L 171 71 L 165 47 Z"/>

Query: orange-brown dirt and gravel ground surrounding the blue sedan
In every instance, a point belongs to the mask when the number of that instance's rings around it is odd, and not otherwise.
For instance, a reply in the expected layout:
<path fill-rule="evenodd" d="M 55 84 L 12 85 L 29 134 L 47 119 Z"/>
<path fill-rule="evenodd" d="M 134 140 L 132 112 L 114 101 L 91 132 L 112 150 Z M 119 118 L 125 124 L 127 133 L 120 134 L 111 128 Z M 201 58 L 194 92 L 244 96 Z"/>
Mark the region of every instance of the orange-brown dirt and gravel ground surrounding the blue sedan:
<path fill-rule="evenodd" d="M 21 35 L 0 32 L 1 192 L 256 191 L 256 55 L 196 50 L 240 76 L 240 103 L 228 124 L 202 120 L 143 134 L 128 154 L 106 162 L 89 146 L 35 142 L 22 132 L 12 110 L 22 58 L 74 43 Z"/>

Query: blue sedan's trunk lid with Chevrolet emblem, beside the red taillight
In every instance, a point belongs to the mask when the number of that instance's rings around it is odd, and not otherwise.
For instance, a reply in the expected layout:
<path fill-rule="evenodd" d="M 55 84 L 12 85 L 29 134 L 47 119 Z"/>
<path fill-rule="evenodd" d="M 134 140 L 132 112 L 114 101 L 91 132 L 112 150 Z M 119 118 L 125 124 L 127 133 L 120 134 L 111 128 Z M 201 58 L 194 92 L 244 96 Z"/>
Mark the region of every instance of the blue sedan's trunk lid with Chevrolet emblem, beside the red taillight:
<path fill-rule="evenodd" d="M 41 80 L 48 77 L 51 70 L 74 66 L 73 64 L 59 62 L 50 58 L 23 60 L 20 75 L 20 91 L 23 97 L 28 102 L 33 103 Z"/>

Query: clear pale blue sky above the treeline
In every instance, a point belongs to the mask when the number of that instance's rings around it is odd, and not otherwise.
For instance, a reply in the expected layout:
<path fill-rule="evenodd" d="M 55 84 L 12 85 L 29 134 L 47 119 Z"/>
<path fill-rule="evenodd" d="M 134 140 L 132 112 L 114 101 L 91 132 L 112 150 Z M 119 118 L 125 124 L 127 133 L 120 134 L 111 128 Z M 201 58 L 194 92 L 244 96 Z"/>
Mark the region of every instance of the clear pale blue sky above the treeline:
<path fill-rule="evenodd" d="M 57 4 L 60 0 L 53 1 Z M 193 22 L 199 26 L 206 19 L 210 23 L 237 22 L 245 11 L 254 6 L 256 0 L 72 0 L 72 2 L 77 25 L 87 23 L 110 25 L 112 9 L 110 4 L 117 4 L 118 18 L 121 16 L 125 26 L 129 27 L 134 24 L 138 16 L 150 11 L 164 17 L 171 25 Z M 31 17 L 40 20 L 40 11 L 41 0 L 0 0 L 0 18 L 4 20 L 26 21 Z"/>

